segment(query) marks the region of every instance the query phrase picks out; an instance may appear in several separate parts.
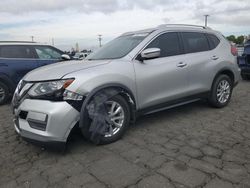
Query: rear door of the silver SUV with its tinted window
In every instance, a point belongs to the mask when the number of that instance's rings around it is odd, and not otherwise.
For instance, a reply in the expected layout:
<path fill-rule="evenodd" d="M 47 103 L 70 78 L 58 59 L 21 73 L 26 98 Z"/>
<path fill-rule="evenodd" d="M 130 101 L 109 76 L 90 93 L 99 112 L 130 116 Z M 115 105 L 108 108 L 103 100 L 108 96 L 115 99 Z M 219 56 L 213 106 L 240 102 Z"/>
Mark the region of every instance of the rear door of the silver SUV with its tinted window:
<path fill-rule="evenodd" d="M 205 33 L 182 32 L 182 41 L 188 64 L 189 93 L 199 94 L 210 90 L 216 56 L 210 50 Z"/>

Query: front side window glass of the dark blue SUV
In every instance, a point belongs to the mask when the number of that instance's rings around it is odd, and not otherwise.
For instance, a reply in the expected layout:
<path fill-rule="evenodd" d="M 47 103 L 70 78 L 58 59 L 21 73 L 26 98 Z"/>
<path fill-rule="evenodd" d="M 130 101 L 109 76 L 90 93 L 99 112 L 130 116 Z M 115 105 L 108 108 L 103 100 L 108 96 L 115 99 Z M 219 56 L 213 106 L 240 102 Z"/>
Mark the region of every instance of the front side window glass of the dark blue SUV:
<path fill-rule="evenodd" d="M 61 53 L 49 46 L 34 46 L 39 59 L 61 59 Z"/>

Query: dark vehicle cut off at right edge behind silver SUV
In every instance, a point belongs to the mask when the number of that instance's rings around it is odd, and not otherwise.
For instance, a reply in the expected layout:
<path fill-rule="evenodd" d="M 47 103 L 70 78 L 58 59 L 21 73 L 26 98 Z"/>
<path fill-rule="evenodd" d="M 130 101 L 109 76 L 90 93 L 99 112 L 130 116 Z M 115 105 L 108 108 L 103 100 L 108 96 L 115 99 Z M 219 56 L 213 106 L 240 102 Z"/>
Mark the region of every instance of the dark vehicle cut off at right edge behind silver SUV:
<path fill-rule="evenodd" d="M 238 57 L 238 64 L 241 69 L 241 77 L 243 80 L 250 80 L 250 41 L 244 44 L 244 50 Z"/>

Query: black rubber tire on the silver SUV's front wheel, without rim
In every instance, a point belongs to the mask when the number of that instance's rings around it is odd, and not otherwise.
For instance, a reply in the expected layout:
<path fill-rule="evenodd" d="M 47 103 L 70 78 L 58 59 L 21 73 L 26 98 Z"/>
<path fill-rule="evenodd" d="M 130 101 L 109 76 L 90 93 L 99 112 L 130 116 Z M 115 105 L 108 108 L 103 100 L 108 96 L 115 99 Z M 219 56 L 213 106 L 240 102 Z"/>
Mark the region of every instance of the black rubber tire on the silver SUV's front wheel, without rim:
<path fill-rule="evenodd" d="M 87 110 L 84 110 L 85 111 L 85 113 L 83 115 L 84 124 L 81 127 L 81 131 L 82 131 L 83 136 L 87 140 L 89 140 L 95 144 L 109 144 L 109 143 L 112 143 L 112 142 L 119 140 L 124 135 L 124 133 L 126 132 L 126 129 L 129 126 L 130 108 L 129 108 L 127 101 L 120 95 L 113 96 L 108 101 L 115 102 L 122 107 L 123 112 L 124 112 L 123 123 L 122 123 L 122 126 L 119 129 L 119 131 L 117 131 L 115 134 L 109 135 L 109 136 L 100 135 L 100 140 L 97 143 L 91 139 L 91 132 L 89 131 L 89 129 L 90 129 L 90 125 L 91 125 L 92 120 L 89 118 L 89 114 L 88 114 Z"/>

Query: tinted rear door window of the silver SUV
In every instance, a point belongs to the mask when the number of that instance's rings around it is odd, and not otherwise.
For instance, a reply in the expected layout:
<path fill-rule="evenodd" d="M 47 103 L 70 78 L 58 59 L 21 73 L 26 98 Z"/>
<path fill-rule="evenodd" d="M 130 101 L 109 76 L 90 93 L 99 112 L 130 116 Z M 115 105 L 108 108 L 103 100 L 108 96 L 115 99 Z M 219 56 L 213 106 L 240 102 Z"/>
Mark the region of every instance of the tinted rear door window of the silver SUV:
<path fill-rule="evenodd" d="M 183 32 L 182 38 L 186 53 L 210 50 L 207 37 L 203 33 Z"/>

